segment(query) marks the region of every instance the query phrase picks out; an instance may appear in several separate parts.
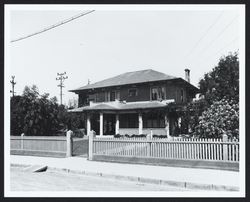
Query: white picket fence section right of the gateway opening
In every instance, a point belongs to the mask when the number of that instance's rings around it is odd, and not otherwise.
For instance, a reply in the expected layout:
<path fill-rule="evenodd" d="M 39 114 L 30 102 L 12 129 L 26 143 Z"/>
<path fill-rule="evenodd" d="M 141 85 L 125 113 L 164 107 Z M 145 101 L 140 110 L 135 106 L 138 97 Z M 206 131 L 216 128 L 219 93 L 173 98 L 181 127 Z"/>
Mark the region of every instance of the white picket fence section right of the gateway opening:
<path fill-rule="evenodd" d="M 223 139 L 93 138 L 92 154 L 164 159 L 239 161 L 239 141 Z"/>

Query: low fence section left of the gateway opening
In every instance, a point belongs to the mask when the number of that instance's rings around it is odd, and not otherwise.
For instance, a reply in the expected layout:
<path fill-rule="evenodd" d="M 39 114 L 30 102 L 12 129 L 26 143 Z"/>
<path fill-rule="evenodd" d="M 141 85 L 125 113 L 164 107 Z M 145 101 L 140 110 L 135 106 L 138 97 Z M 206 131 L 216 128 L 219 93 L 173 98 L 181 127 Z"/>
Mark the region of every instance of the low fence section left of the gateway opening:
<path fill-rule="evenodd" d="M 15 155 L 66 157 L 66 137 L 11 136 L 10 153 Z"/>

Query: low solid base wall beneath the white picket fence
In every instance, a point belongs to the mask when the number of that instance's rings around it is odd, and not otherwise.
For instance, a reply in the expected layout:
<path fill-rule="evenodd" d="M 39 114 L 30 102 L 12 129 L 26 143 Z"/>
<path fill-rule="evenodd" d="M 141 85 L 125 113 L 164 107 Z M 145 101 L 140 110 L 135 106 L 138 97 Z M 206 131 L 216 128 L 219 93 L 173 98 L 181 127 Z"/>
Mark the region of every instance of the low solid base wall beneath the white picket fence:
<path fill-rule="evenodd" d="M 94 161 L 120 162 L 132 164 L 148 164 L 157 166 L 171 166 L 184 168 L 207 168 L 239 171 L 239 162 L 223 162 L 223 161 L 205 161 L 205 160 L 178 160 L 178 159 L 163 159 L 152 157 L 124 157 L 124 156 L 108 156 L 108 155 L 93 155 Z"/>

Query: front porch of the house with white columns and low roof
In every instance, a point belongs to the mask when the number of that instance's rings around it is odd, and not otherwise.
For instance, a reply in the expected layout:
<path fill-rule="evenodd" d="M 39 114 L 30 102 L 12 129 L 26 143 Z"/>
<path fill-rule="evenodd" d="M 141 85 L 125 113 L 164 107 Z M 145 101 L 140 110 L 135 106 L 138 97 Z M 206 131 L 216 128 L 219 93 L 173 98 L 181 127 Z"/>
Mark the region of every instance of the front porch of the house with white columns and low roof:
<path fill-rule="evenodd" d="M 87 135 L 93 130 L 100 137 L 151 132 L 169 137 L 173 117 L 167 106 L 171 101 L 90 103 L 71 112 L 86 114 Z"/>

